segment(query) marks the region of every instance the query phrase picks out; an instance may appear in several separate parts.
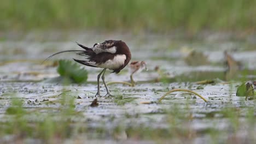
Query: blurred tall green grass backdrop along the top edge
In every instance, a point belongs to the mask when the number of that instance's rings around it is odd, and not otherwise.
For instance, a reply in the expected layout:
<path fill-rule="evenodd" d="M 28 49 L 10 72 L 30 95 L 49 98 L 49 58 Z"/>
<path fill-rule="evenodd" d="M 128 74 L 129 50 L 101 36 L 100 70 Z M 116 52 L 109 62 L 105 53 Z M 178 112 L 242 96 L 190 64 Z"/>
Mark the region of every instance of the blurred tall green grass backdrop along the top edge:
<path fill-rule="evenodd" d="M 254 31 L 255 0 L 2 0 L 1 31 Z"/>

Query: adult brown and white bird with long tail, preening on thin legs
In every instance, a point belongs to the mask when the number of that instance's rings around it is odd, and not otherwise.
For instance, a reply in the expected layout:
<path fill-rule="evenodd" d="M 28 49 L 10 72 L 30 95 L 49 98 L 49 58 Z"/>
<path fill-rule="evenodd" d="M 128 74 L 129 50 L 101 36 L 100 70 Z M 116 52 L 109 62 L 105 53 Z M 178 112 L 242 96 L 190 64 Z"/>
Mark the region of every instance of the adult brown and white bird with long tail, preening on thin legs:
<path fill-rule="evenodd" d="M 53 57 L 62 52 L 78 52 L 77 54 L 80 56 L 84 56 L 85 60 L 74 59 L 75 62 L 78 62 L 83 65 L 87 65 L 89 67 L 103 68 L 100 74 L 97 76 L 97 93 L 95 97 L 101 97 L 100 95 L 100 77 L 104 83 L 107 94 L 106 96 L 111 96 L 109 89 L 105 82 L 104 74 L 106 69 L 113 70 L 112 73 L 118 74 L 120 70 L 122 70 L 131 59 L 131 52 L 129 47 L 121 40 L 106 40 L 103 43 L 94 44 L 93 47 L 89 48 L 82 44 L 77 43 L 84 50 L 68 50 L 54 53 L 49 56 Z M 46 59 L 45 59 L 46 60 Z"/>

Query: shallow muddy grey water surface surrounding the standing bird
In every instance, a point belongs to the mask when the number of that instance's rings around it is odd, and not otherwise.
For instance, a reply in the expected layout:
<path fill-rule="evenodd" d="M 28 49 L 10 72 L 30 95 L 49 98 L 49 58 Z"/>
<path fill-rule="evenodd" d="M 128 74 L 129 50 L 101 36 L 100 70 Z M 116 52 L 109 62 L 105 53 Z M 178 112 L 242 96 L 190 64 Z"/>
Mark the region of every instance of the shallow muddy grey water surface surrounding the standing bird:
<path fill-rule="evenodd" d="M 240 81 L 231 84 L 224 82 L 226 67 L 223 64 L 225 59 L 223 52 L 228 50 L 230 55 L 245 65 L 246 69 L 254 71 L 256 69 L 256 45 L 253 43 L 255 37 L 234 40 L 229 34 L 222 38 L 216 35 L 218 34 L 209 34 L 193 40 L 179 35 L 120 35 L 92 32 L 41 35 L 39 32 L 34 32 L 15 37 L 4 35 L 6 39 L 0 42 L 0 117 L 5 116 L 5 110 L 14 95 L 24 100 L 25 109 L 31 110 L 38 107 L 58 107 L 58 100 L 65 91 L 67 95 L 75 98 L 75 110 L 83 113 L 84 117 L 76 121 L 86 122 L 87 127 L 91 129 L 104 128 L 111 131 L 120 125 L 126 129 L 142 124 L 153 129 L 168 129 L 173 126 L 167 119 L 173 112 L 173 107 L 178 105 L 181 113 L 191 115 L 188 123 L 179 122 L 181 124 L 179 128 L 184 129 L 183 125 L 189 125 L 189 129 L 198 133 L 193 139 L 194 142 L 204 143 L 208 140 L 208 134 L 204 134 L 204 131 L 208 129 L 222 131 L 230 128 L 230 122 L 219 112 L 223 107 L 230 107 L 231 104 L 231 107 L 238 107 L 241 111 L 247 106 L 255 107 L 255 101 L 245 101 L 244 97 L 235 96 L 236 86 L 240 85 Z M 126 41 L 132 53 L 132 61 L 146 61 L 149 70 L 134 76 L 137 81 L 136 87 L 110 85 L 109 88 L 115 97 L 98 98 L 99 105 L 90 107 L 97 91 L 96 79 L 100 69 L 86 67 L 89 71 L 88 82 L 64 86 L 61 78 L 58 78 L 56 67 L 53 67 L 51 62 L 56 59 L 79 57 L 75 56 L 75 53 L 63 53 L 44 64 L 42 61 L 54 52 L 79 50 L 73 41 L 92 46 L 105 39 Z M 203 52 L 209 63 L 187 65 L 184 58 L 191 49 Z M 161 80 L 161 75 L 155 70 L 156 66 L 166 76 L 167 81 Z M 252 72 L 251 77 L 246 79 L 255 80 L 254 74 Z M 129 77 L 127 68 L 118 75 L 106 73 L 106 81 L 129 81 Z M 238 75 L 238 77 L 243 76 Z M 196 85 L 195 81 L 206 79 L 218 79 L 218 82 L 198 88 L 199 85 Z M 169 94 L 162 103 L 141 104 L 144 101 L 157 101 L 172 88 L 191 89 L 203 95 L 210 103 L 207 104 L 191 94 L 176 92 Z M 102 95 L 106 93 L 103 85 L 101 91 Z M 188 105 L 189 111 L 187 111 Z M 238 120 L 245 121 L 244 116 L 241 115 Z M 241 129 L 238 132 L 238 137 L 246 139 L 244 134 L 248 131 Z M 91 135 L 92 139 L 99 138 L 97 135 Z M 106 135 L 100 138 L 109 139 Z"/>

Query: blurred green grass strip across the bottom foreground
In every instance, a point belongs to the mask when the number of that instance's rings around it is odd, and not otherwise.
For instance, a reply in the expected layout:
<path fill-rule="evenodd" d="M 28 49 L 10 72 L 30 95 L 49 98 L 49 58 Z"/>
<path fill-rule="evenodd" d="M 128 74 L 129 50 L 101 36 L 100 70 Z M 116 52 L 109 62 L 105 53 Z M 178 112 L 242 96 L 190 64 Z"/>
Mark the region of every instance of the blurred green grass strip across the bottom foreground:
<path fill-rule="evenodd" d="M 200 117 L 191 113 L 193 110 L 193 100 L 187 99 L 185 107 L 175 104 L 166 107 L 158 114 L 165 114 L 165 127 L 150 127 L 147 124 L 137 125 L 139 116 L 126 113 L 123 118 L 129 119 L 131 124 L 125 125 L 123 121 L 115 121 L 114 116 L 107 116 L 110 123 L 115 123 L 113 127 L 99 123 L 91 127 L 90 119 L 83 116 L 82 111 L 75 110 L 75 98 L 71 91 L 65 91 L 56 97 L 55 101 L 43 100 L 39 103 L 55 103 L 56 107 L 40 107 L 30 100 L 11 98 L 11 105 L 5 111 L 0 123 L 1 143 L 63 143 L 68 140 L 74 143 L 84 143 L 90 140 L 150 140 L 150 142 L 164 143 L 191 143 L 195 137 L 207 136 L 206 140 L 211 143 L 252 143 L 255 141 L 255 124 L 253 106 L 235 107 L 232 101 L 225 103 L 227 107 L 219 107 L 218 111 L 200 113 L 205 115 L 205 121 L 211 120 L 209 127 L 195 129 L 193 123 L 200 121 Z M 27 102 L 27 104 L 26 104 Z M 36 102 L 37 103 L 37 102 Z M 25 108 L 25 105 L 33 105 L 34 109 Z M 40 104 L 41 105 L 41 104 Z M 39 107 L 38 107 L 39 106 Z M 85 106 L 89 109 L 89 106 Z M 202 107 L 207 109 L 207 107 Z M 148 115 L 154 115 L 148 113 Z M 112 117 L 112 118 L 111 118 Z M 243 120 L 241 120 L 241 117 Z M 226 126 L 219 126 L 225 119 Z M 5 119 L 8 119 L 5 120 Z M 216 121 L 217 120 L 217 121 Z M 151 122 L 152 126 L 157 123 Z M 185 125 L 185 127 L 184 127 Z M 100 126 L 100 127 L 98 127 Z M 243 130 L 243 137 L 240 136 Z M 8 138 L 9 137 L 9 138 Z M 69 141 L 70 143 L 70 141 Z M 90 143 L 90 142 L 89 142 Z"/>

